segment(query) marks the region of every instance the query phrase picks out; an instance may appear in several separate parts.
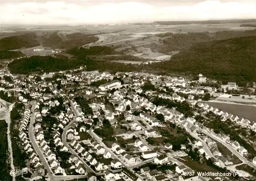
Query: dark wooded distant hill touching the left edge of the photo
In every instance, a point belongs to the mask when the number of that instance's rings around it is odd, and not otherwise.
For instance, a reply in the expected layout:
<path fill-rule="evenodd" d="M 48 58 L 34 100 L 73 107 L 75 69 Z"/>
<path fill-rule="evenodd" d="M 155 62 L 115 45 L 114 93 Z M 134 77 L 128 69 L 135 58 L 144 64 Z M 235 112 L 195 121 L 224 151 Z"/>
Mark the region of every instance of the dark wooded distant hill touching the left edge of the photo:
<path fill-rule="evenodd" d="M 40 43 L 34 39 L 34 35 L 25 34 L 20 36 L 10 36 L 0 39 L 0 51 L 16 50 L 39 46 Z"/>

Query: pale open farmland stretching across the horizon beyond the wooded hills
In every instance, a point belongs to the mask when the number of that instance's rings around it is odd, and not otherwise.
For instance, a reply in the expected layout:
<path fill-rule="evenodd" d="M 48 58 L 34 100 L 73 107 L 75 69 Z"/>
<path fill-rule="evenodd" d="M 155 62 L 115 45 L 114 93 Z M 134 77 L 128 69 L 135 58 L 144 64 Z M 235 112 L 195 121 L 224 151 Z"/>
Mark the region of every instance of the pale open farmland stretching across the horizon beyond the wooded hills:
<path fill-rule="evenodd" d="M 62 41 L 68 41 L 68 35 L 82 33 L 84 35 L 96 35 L 98 40 L 95 42 L 88 42 L 84 39 L 83 46 L 111 46 L 115 47 L 116 51 L 120 51 L 126 55 L 139 56 L 141 58 L 169 60 L 170 50 L 165 53 L 152 52 L 150 44 L 162 42 L 165 37 L 160 38 L 159 34 L 178 33 L 186 34 L 191 32 L 216 32 L 216 31 L 245 31 L 249 29 L 256 29 L 256 27 L 240 27 L 240 23 L 228 24 L 190 24 L 190 25 L 89 25 L 89 26 L 24 26 L 24 27 L 2 27 L 0 31 L 0 38 L 8 36 L 19 36 L 30 33 L 31 36 L 36 36 L 36 40 L 42 45 L 47 38 L 53 33 L 57 35 Z M 34 34 L 33 34 L 34 33 Z M 32 35 L 33 34 L 33 35 Z M 54 40 L 54 39 L 53 39 Z M 53 41 L 51 40 L 51 41 Z M 78 38 L 76 38 L 78 41 Z M 79 43 L 82 44 L 81 36 L 79 36 Z M 49 44 L 49 43 L 48 43 Z M 64 43 L 65 44 L 65 43 Z M 75 46 L 75 44 L 74 44 Z M 39 46 L 42 48 L 42 46 Z M 47 48 L 49 46 L 43 46 Z M 57 47 L 65 47 L 59 44 Z M 32 50 L 38 47 L 31 47 Z M 50 51 L 34 52 L 31 49 L 20 50 L 26 55 L 49 55 Z"/>

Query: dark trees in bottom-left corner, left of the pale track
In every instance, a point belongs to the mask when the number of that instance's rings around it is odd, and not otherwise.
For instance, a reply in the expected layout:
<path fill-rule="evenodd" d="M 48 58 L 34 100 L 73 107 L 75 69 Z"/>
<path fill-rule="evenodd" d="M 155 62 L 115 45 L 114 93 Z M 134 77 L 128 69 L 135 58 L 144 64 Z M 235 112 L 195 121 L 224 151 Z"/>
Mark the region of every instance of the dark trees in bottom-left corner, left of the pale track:
<path fill-rule="evenodd" d="M 0 120 L 0 180 L 11 180 L 11 167 L 9 165 L 8 156 L 8 140 L 7 140 L 7 123 L 5 120 Z"/>

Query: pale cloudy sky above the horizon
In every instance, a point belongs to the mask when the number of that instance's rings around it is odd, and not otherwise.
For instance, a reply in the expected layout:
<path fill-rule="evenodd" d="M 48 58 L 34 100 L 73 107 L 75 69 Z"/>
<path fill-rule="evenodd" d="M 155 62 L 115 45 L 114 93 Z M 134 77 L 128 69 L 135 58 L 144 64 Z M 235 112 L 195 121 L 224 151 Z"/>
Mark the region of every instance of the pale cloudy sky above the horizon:
<path fill-rule="evenodd" d="M 82 25 L 156 20 L 256 18 L 256 0 L 12 1 L 0 0 L 1 24 Z"/>

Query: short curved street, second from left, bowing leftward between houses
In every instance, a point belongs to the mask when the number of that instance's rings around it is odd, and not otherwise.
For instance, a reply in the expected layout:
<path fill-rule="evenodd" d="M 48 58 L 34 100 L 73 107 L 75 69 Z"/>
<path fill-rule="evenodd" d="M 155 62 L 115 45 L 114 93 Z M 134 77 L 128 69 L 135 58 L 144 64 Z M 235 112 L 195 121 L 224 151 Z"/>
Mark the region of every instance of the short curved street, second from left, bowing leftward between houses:
<path fill-rule="evenodd" d="M 69 149 L 69 151 L 76 155 L 78 157 L 78 159 L 83 163 L 84 167 L 86 167 L 87 172 L 93 172 L 97 175 L 100 175 L 100 173 L 96 173 L 89 165 L 87 165 L 86 162 L 83 161 L 83 159 L 69 146 L 68 142 L 67 142 L 67 131 L 69 129 L 69 127 L 75 122 L 75 119 L 73 119 L 64 129 L 63 129 L 63 133 L 61 136 L 62 142 L 63 144 Z"/>

